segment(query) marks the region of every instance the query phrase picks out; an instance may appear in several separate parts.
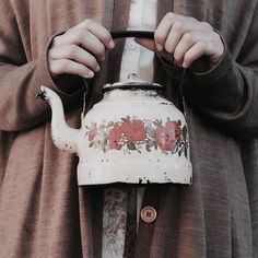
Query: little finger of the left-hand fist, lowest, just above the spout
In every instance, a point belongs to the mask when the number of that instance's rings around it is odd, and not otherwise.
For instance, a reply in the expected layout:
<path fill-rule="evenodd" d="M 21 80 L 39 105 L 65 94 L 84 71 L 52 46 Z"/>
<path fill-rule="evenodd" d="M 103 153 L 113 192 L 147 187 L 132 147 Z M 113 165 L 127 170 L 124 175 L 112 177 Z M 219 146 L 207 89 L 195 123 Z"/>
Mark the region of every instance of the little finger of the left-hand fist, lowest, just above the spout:
<path fill-rule="evenodd" d="M 94 72 L 87 67 L 69 59 L 49 61 L 49 70 L 54 75 L 77 74 L 83 78 L 93 78 Z"/>

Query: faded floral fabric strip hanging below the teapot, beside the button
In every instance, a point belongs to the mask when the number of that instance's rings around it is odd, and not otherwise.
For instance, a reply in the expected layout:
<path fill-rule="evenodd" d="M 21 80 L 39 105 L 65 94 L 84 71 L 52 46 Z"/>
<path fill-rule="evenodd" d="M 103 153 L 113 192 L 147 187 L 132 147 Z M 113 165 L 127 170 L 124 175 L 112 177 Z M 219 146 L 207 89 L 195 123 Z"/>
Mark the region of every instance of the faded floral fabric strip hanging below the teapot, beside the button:
<path fill-rule="evenodd" d="M 133 257 L 137 223 L 144 187 L 107 188 L 104 191 L 103 258 Z"/>

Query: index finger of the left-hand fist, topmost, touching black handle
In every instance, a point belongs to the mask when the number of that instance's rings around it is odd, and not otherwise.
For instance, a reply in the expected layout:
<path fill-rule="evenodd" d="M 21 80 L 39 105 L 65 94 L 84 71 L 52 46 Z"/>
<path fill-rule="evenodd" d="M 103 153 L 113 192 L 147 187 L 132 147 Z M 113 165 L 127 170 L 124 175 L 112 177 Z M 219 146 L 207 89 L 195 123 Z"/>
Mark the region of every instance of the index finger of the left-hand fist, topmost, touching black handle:
<path fill-rule="evenodd" d="M 82 23 L 78 24 L 78 27 L 87 28 L 93 35 L 95 35 L 106 48 L 112 49 L 115 46 L 115 43 L 112 38 L 110 33 L 101 24 L 86 19 Z"/>

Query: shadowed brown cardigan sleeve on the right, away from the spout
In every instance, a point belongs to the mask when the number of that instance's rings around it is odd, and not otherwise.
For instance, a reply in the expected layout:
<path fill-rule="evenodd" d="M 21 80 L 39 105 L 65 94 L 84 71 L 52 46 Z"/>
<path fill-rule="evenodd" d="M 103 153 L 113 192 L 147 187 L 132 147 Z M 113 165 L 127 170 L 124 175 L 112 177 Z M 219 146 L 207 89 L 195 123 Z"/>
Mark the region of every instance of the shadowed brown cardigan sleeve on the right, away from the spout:
<path fill-rule="evenodd" d="M 214 128 L 235 137 L 258 137 L 258 10 L 253 21 L 242 52 L 236 60 L 225 44 L 220 62 L 208 72 L 187 70 L 184 95 L 187 103 Z M 176 80 L 180 69 L 165 70 Z"/>

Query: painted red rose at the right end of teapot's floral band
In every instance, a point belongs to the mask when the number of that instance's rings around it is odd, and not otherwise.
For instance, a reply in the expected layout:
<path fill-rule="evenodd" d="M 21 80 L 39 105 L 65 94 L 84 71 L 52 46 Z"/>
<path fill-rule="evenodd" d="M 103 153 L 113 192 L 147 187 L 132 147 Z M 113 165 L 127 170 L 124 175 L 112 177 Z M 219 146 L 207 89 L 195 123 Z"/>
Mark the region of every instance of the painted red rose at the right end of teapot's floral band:
<path fill-rule="evenodd" d="M 155 141 L 163 151 L 173 151 L 180 139 L 181 129 L 176 121 L 168 120 L 165 126 L 156 128 Z"/>

